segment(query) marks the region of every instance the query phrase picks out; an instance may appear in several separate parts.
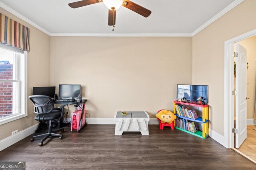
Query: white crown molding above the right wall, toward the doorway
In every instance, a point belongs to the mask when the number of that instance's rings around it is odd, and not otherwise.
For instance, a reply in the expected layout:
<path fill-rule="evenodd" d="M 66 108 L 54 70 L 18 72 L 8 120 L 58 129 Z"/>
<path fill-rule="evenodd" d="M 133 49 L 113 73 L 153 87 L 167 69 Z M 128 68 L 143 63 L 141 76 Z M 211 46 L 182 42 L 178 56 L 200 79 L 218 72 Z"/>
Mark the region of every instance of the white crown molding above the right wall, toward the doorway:
<path fill-rule="evenodd" d="M 228 13 L 230 10 L 232 10 L 233 8 L 235 8 L 236 6 L 238 6 L 239 4 L 241 4 L 244 0 L 235 0 L 234 2 L 232 2 L 229 6 L 227 6 L 226 8 L 224 8 L 221 12 L 219 12 L 218 14 L 216 14 L 216 16 L 212 17 L 210 20 L 208 20 L 206 23 L 204 23 L 203 25 L 201 25 L 198 29 L 196 29 L 194 32 L 192 32 L 192 37 L 194 35 L 196 35 L 197 33 L 199 33 L 200 31 L 202 31 L 204 28 L 208 27 L 211 23 L 213 23 L 214 21 L 218 20 L 220 17 L 224 16 L 226 13 Z"/>

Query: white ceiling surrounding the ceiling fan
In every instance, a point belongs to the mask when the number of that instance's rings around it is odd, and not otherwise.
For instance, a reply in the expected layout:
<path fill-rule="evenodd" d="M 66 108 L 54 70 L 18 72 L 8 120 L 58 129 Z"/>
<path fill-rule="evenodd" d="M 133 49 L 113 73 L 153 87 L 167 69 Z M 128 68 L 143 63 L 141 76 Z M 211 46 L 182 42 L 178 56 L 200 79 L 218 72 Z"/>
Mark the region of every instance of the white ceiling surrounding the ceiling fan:
<path fill-rule="evenodd" d="M 0 0 L 50 33 L 192 33 L 235 0 L 132 0 L 152 11 L 148 18 L 120 7 L 108 26 L 103 3 L 70 8 L 78 0 Z"/>

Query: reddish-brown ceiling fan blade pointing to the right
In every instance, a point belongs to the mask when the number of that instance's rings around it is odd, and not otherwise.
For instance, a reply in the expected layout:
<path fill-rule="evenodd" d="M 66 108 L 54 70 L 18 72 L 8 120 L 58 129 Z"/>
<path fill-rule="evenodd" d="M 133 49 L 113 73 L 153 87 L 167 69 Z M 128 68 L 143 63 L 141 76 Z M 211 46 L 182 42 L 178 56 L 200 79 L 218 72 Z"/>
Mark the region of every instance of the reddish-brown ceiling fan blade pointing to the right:
<path fill-rule="evenodd" d="M 151 14 L 151 11 L 138 5 L 135 4 L 134 2 L 130 1 L 130 0 L 124 0 L 124 3 L 122 4 L 122 6 L 124 6 L 125 8 L 128 8 L 129 10 L 132 10 L 144 17 L 148 17 Z"/>

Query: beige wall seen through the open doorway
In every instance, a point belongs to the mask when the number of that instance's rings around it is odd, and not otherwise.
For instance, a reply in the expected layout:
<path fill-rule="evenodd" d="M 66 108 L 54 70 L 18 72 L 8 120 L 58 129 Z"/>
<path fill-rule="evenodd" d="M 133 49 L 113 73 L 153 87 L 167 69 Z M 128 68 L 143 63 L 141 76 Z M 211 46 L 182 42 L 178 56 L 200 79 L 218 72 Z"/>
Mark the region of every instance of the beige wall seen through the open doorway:
<path fill-rule="evenodd" d="M 238 42 L 247 50 L 247 119 L 253 119 L 255 105 L 255 76 L 256 76 L 256 37 L 250 37 Z"/>

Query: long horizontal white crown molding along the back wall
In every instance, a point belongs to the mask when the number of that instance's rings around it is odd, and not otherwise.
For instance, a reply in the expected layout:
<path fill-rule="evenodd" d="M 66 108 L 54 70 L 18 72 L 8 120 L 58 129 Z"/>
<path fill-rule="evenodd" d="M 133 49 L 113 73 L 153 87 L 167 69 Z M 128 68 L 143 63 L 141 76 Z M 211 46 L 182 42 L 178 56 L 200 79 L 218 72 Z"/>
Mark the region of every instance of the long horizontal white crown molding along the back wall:
<path fill-rule="evenodd" d="M 50 33 L 62 37 L 192 37 L 191 33 Z"/>

